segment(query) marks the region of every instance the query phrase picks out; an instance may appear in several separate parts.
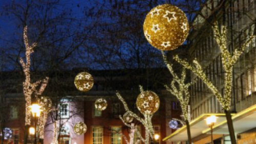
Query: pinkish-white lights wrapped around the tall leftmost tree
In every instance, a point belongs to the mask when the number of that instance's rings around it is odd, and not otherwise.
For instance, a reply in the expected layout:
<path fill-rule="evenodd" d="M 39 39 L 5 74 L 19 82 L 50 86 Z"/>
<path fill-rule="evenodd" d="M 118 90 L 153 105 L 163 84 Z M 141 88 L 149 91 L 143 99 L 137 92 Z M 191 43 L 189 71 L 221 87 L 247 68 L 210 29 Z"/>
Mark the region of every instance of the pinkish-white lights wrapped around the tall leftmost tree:
<path fill-rule="evenodd" d="M 37 42 L 34 42 L 31 46 L 29 45 L 29 39 L 28 39 L 28 28 L 27 26 L 24 27 L 23 32 L 23 38 L 24 38 L 24 44 L 26 47 L 26 63 L 24 62 L 23 58 L 19 58 L 20 64 L 22 64 L 22 68 L 25 74 L 25 81 L 23 82 L 23 92 L 25 97 L 25 125 L 30 125 L 30 108 L 31 105 L 31 96 L 35 92 L 36 95 L 40 95 L 44 90 L 48 83 L 48 77 L 46 77 L 44 80 L 42 80 L 42 84 L 39 88 L 39 90 L 36 90 L 36 87 L 41 83 L 41 80 L 36 81 L 35 83 L 31 83 L 30 79 L 30 55 L 34 52 L 33 49 L 37 45 Z"/>

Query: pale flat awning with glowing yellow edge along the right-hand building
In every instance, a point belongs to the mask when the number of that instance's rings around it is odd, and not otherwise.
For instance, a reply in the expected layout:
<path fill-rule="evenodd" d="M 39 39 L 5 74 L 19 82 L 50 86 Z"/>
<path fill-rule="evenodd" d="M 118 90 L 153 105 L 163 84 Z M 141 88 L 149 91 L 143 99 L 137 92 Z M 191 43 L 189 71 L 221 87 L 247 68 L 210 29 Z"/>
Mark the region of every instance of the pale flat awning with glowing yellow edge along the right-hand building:
<path fill-rule="evenodd" d="M 206 134 L 210 129 L 206 125 L 205 118 L 210 115 L 216 115 L 217 122 L 214 129 L 214 134 L 229 134 L 225 113 L 205 113 L 191 121 L 190 132 L 191 138 Z M 256 105 L 253 105 L 237 114 L 232 114 L 233 127 L 235 133 L 242 133 L 256 127 Z M 187 140 L 186 126 L 165 137 L 163 141 L 185 141 Z"/>

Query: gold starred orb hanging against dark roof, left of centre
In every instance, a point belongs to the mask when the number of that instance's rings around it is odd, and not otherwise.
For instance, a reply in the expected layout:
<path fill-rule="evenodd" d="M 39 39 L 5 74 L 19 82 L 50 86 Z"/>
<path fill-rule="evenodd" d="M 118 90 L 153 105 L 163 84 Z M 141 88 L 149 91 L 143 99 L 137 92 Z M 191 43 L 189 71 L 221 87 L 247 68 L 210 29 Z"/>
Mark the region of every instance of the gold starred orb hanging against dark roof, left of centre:
<path fill-rule="evenodd" d="M 93 77 L 87 72 L 81 72 L 75 77 L 75 86 L 80 91 L 89 91 L 93 87 Z"/>

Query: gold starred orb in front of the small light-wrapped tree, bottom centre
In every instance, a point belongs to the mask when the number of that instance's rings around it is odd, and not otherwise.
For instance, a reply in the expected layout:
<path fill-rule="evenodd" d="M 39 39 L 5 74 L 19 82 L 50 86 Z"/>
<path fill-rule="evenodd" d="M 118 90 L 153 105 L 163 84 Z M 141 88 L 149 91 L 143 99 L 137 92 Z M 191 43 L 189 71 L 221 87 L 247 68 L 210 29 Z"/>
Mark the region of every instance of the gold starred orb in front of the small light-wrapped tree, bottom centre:
<path fill-rule="evenodd" d="M 155 92 L 148 90 L 138 95 L 136 105 L 141 113 L 153 114 L 158 110 L 160 100 Z"/>

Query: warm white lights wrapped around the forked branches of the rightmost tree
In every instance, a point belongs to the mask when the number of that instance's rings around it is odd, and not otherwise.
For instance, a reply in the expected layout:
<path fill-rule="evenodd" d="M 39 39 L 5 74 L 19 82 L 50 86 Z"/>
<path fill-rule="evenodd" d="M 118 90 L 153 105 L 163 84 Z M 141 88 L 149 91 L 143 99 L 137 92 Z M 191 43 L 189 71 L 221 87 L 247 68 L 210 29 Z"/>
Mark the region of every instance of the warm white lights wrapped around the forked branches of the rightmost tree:
<path fill-rule="evenodd" d="M 231 101 L 231 88 L 232 88 L 232 68 L 234 63 L 237 62 L 241 54 L 245 51 L 246 45 L 248 45 L 255 36 L 250 36 L 248 39 L 245 40 L 245 42 L 242 44 L 241 49 L 234 50 L 233 54 L 230 55 L 230 53 L 227 50 L 227 37 L 226 37 L 226 27 L 221 26 L 221 32 L 218 29 L 218 23 L 216 22 L 214 26 L 212 27 L 214 31 L 214 38 L 217 41 L 218 46 L 221 50 L 221 58 L 223 63 L 223 69 L 225 72 L 224 75 L 224 95 L 221 95 L 221 93 L 218 91 L 217 87 L 212 84 L 212 82 L 206 77 L 201 65 L 198 63 L 198 61 L 195 59 L 193 60 L 194 66 L 190 65 L 185 60 L 180 59 L 178 56 L 175 56 L 174 59 L 182 64 L 185 68 L 190 69 L 193 71 L 195 75 L 197 75 L 206 85 L 207 87 L 212 91 L 212 93 L 217 97 L 218 101 L 220 102 L 221 106 L 225 110 L 230 109 L 230 101 Z M 223 97 L 222 97 L 223 96 Z"/>

